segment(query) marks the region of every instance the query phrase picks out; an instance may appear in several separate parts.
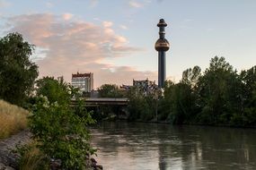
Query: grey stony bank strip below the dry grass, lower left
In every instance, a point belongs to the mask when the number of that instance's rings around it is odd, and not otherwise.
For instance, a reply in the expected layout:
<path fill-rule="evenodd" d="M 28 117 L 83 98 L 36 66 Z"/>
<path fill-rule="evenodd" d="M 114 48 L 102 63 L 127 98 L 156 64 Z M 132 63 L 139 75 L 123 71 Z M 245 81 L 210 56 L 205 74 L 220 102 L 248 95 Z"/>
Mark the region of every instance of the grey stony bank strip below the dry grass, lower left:
<path fill-rule="evenodd" d="M 14 134 L 8 139 L 0 140 L 0 170 L 13 170 L 17 167 L 17 156 L 12 149 L 19 143 L 26 144 L 31 140 L 31 133 L 28 130 Z"/>

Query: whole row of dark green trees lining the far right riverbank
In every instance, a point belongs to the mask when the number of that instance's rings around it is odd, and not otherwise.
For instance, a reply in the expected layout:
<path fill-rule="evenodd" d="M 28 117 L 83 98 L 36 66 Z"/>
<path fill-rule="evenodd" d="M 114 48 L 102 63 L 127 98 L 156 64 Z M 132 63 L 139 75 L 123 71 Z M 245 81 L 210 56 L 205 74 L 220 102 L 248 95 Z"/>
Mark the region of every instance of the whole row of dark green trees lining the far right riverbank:
<path fill-rule="evenodd" d="M 239 74 L 215 56 L 205 72 L 195 66 L 180 82 L 166 81 L 158 101 L 136 89 L 128 98 L 130 120 L 152 120 L 157 113 L 157 120 L 171 123 L 256 126 L 256 66 Z"/>

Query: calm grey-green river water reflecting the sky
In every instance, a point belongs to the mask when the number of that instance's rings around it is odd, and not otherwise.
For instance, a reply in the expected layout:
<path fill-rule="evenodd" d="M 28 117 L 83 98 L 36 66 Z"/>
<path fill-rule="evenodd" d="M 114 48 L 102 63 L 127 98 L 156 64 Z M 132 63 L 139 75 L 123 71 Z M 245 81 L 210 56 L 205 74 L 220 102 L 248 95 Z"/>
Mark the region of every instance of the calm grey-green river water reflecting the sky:
<path fill-rule="evenodd" d="M 119 122 L 91 132 L 104 170 L 256 169 L 256 129 Z"/>

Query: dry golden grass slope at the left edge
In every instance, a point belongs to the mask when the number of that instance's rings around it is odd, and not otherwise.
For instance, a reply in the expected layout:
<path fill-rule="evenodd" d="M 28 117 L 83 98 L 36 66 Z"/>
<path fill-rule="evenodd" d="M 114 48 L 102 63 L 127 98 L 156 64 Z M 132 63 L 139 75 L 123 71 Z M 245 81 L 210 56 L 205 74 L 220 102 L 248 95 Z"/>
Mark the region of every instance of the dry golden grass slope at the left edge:
<path fill-rule="evenodd" d="M 0 139 L 21 132 L 27 127 L 27 116 L 30 113 L 19 106 L 0 100 Z"/>

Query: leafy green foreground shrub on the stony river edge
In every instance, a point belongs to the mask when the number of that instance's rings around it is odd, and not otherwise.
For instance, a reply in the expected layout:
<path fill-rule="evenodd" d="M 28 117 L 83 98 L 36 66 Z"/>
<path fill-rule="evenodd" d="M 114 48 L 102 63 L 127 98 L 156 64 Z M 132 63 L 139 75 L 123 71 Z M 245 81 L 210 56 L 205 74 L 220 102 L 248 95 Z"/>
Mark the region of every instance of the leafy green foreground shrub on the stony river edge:
<path fill-rule="evenodd" d="M 94 123 L 90 113 L 83 117 L 71 109 L 37 98 L 30 117 L 30 129 L 38 148 L 48 159 L 61 160 L 65 169 L 82 169 L 88 154 L 93 154 L 86 126 Z"/>

